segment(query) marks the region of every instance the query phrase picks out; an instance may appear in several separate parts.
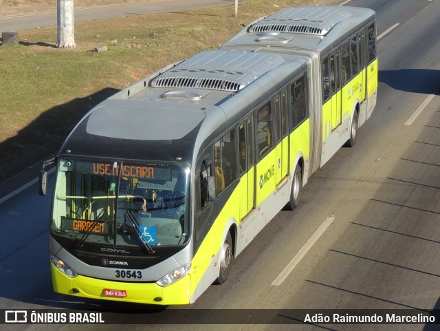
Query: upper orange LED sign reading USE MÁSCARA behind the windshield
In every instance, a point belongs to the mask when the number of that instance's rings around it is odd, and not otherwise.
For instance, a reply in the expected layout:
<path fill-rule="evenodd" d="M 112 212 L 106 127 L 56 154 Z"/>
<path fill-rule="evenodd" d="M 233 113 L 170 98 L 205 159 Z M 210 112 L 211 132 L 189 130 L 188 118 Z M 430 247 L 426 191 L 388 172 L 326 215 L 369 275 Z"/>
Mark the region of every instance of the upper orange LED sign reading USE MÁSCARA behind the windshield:
<path fill-rule="evenodd" d="M 139 164 L 120 164 L 105 162 L 77 162 L 76 169 L 79 173 L 90 175 L 118 176 L 121 172 L 122 177 L 143 178 L 150 180 L 170 180 L 171 169 L 165 166 L 139 165 Z"/>

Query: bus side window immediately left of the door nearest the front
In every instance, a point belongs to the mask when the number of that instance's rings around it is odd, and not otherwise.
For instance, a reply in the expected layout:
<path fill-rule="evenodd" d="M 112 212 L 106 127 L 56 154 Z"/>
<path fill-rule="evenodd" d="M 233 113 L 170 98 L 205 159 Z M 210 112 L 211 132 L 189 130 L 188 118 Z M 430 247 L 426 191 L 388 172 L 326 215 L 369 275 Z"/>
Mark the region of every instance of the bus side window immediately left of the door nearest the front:
<path fill-rule="evenodd" d="M 235 129 L 214 144 L 215 191 L 219 195 L 236 180 Z"/>

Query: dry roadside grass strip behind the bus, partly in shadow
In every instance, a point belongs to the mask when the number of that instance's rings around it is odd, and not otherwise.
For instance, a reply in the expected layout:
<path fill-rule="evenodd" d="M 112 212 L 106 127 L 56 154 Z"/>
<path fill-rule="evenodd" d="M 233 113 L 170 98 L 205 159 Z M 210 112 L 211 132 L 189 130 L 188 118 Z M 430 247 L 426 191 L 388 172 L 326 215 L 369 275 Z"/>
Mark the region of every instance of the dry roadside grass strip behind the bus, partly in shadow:
<path fill-rule="evenodd" d="M 247 0 L 239 3 L 238 17 L 231 1 L 217 8 L 78 22 L 77 47 L 69 50 L 54 47 L 56 27 L 20 31 L 20 45 L 0 46 L 0 167 L 41 146 L 61 146 L 91 107 L 160 67 L 216 49 L 256 18 L 314 2 Z M 108 51 L 93 52 L 101 45 Z"/>

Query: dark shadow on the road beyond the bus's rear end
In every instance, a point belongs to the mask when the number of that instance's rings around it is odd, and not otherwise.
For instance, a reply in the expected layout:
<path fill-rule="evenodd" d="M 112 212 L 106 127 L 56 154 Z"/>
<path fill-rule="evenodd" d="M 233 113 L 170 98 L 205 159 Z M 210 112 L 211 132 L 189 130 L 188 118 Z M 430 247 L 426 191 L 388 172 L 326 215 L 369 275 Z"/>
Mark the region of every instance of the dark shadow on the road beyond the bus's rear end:
<path fill-rule="evenodd" d="M 404 92 L 440 95 L 440 70 L 380 70 L 379 81 Z"/>

